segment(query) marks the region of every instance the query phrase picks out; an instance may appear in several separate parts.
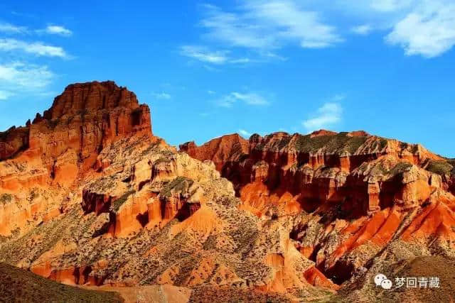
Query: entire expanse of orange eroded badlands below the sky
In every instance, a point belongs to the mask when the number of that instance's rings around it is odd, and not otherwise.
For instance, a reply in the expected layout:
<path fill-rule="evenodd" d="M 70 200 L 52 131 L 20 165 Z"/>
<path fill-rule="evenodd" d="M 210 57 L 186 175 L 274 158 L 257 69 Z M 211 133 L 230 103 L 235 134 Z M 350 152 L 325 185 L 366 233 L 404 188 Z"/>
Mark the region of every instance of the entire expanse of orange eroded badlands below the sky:
<path fill-rule="evenodd" d="M 454 167 L 364 131 L 176 148 L 133 92 L 71 84 L 0 133 L 0 301 L 454 302 Z"/>

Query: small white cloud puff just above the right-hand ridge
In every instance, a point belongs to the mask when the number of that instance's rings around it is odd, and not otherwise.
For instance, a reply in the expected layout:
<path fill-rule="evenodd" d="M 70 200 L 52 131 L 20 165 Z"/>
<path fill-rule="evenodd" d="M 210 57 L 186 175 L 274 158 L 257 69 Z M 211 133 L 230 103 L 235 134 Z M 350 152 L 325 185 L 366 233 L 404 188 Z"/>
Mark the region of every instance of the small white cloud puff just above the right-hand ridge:
<path fill-rule="evenodd" d="M 327 128 L 341 121 L 343 109 L 338 103 L 326 103 L 321 106 L 315 116 L 302 122 L 307 131 L 316 131 Z"/>

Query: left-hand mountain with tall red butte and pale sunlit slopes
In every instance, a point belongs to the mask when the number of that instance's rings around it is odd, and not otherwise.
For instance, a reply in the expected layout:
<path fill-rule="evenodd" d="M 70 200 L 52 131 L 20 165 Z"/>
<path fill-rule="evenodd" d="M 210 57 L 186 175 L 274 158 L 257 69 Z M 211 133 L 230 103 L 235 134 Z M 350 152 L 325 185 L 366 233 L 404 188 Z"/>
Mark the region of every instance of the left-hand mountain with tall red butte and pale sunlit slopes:
<path fill-rule="evenodd" d="M 7 131 L 0 262 L 71 285 L 171 284 L 196 297 L 287 300 L 338 288 L 288 228 L 238 208 L 213 162 L 177 153 L 150 123 L 132 92 L 91 82 Z M 246 151 L 233 137 L 210 155 L 217 163 Z"/>

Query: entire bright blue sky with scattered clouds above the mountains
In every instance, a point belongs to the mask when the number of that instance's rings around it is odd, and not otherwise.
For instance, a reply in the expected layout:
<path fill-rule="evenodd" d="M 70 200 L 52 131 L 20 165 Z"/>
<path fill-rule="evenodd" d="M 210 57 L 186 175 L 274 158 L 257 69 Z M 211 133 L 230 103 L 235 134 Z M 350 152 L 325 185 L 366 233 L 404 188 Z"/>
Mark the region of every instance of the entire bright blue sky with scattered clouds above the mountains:
<path fill-rule="evenodd" d="M 455 157 L 451 0 L 2 1 L 0 129 L 112 79 L 177 145 L 365 130 Z"/>

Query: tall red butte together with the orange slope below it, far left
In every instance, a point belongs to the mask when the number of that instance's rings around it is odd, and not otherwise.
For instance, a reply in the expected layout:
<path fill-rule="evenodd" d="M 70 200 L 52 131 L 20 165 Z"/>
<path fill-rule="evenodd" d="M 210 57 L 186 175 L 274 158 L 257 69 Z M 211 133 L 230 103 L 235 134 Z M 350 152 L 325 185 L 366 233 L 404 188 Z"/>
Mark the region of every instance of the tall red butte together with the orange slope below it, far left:
<path fill-rule="evenodd" d="M 104 146 L 134 136 L 152 137 L 149 107 L 114 82 L 71 84 L 33 123 L 0 133 L 0 197 L 13 202 L 0 203 L 0 235 L 55 216 Z"/>

